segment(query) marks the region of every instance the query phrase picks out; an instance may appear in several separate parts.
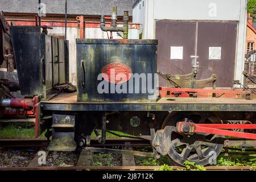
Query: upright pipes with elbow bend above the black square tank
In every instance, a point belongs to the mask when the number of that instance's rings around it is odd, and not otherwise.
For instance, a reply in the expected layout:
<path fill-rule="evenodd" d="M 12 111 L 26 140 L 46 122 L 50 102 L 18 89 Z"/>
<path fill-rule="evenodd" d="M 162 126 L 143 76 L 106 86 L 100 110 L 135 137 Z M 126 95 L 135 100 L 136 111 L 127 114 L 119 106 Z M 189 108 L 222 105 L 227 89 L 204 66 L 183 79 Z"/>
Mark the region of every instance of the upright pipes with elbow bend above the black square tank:
<path fill-rule="evenodd" d="M 128 11 L 124 11 L 123 13 L 123 27 L 117 27 L 117 7 L 113 7 L 113 13 L 111 17 L 111 26 L 106 27 L 105 25 L 105 16 L 101 15 L 101 30 L 102 31 L 110 31 L 110 32 L 123 32 L 123 39 L 128 38 L 128 21 L 129 15 Z"/>

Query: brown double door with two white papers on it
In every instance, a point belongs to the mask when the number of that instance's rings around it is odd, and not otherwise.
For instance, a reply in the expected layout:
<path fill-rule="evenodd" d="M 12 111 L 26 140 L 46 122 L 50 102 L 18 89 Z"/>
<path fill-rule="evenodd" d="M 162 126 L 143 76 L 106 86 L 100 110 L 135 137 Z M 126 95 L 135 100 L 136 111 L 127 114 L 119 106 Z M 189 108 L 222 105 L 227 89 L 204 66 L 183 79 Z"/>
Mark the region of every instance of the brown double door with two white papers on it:
<path fill-rule="evenodd" d="M 199 56 L 197 79 L 217 74 L 217 86 L 232 86 L 236 61 L 237 22 L 156 21 L 158 69 L 162 73 L 185 75 L 193 71 Z M 166 81 L 159 78 L 159 86 Z"/>

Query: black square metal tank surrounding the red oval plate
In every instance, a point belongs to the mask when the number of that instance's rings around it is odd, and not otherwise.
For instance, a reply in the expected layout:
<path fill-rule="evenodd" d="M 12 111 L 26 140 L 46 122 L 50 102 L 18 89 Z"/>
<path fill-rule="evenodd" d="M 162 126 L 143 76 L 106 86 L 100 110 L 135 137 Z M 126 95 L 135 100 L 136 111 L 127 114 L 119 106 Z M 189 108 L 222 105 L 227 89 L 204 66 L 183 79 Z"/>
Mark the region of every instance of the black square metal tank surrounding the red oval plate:
<path fill-rule="evenodd" d="M 105 80 L 97 80 L 102 73 L 102 68 L 111 63 L 122 63 L 131 68 L 131 73 L 152 73 L 152 88 L 154 73 L 156 73 L 156 49 L 157 40 L 118 40 L 118 39 L 77 39 L 77 101 L 96 102 L 129 102 L 152 101 L 148 100 L 148 89 L 142 93 L 142 81 L 140 93 L 135 93 L 135 79 L 131 77 L 124 84 L 129 89 L 133 85 L 133 92 L 112 93 L 110 88 L 115 86 Z M 97 85 L 103 81 L 109 84 L 108 93 L 98 93 Z M 123 86 L 123 84 L 122 84 Z M 138 86 L 138 85 L 137 85 Z M 135 93 L 135 94 L 134 94 Z"/>

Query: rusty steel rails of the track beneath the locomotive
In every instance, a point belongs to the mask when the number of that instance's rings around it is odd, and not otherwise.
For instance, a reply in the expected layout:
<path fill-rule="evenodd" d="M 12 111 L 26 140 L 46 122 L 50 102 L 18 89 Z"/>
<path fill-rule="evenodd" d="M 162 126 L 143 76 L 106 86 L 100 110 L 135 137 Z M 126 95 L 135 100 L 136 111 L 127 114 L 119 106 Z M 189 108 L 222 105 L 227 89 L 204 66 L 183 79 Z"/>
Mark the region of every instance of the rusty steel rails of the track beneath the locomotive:
<path fill-rule="evenodd" d="M 144 139 L 108 139 L 105 144 L 98 143 L 97 139 L 92 139 L 90 142 L 91 147 L 103 146 L 122 146 L 125 147 L 129 142 L 130 146 L 150 146 L 150 142 Z M 0 147 L 46 147 L 48 141 L 46 139 L 0 139 Z M 37 162 L 38 159 L 34 161 Z M 76 166 L 71 167 L 49 167 L 49 166 L 31 166 L 28 167 L 0 167 L 0 171 L 151 171 L 160 168 L 160 166 Z M 174 170 L 185 170 L 185 167 L 170 166 Z M 208 171 L 237 171 L 237 170 L 256 170 L 256 167 L 250 166 L 207 166 Z"/>

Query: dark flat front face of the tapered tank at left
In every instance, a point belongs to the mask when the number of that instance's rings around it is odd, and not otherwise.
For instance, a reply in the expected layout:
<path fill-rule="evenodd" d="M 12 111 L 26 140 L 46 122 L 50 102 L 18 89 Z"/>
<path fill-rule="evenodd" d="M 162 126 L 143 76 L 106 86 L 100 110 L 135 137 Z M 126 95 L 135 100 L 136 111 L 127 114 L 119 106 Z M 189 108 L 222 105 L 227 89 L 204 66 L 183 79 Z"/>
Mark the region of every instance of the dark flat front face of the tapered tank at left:
<path fill-rule="evenodd" d="M 42 94 L 45 97 L 43 90 L 45 36 L 39 34 L 39 31 L 39 27 L 10 27 L 20 93 L 27 96 Z M 42 44 L 39 44 L 39 40 Z"/>

